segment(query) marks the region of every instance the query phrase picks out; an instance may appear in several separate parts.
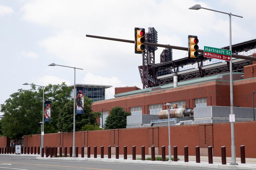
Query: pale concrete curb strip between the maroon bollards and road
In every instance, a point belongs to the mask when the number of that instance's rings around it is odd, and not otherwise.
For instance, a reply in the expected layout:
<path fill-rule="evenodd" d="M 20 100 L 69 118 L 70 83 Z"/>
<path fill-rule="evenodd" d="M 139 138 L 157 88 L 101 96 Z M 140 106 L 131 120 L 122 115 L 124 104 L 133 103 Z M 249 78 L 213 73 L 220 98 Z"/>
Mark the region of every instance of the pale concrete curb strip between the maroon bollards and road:
<path fill-rule="evenodd" d="M 73 158 L 73 157 L 61 157 L 61 158 L 42 158 L 36 157 L 38 160 L 79 160 L 79 161 L 96 161 L 96 162 L 115 162 L 115 163 L 136 163 L 136 164 L 158 164 L 158 165 L 174 165 L 174 166 L 197 166 L 197 167 L 211 167 L 211 168 L 226 168 L 226 169 L 252 169 L 256 170 L 255 164 L 239 164 L 234 165 L 222 165 L 219 162 L 214 162 L 213 164 L 208 164 L 208 162 L 196 163 L 196 161 L 190 162 L 166 162 L 166 161 L 142 161 L 142 160 L 132 160 L 132 159 L 107 159 L 107 158 Z"/>

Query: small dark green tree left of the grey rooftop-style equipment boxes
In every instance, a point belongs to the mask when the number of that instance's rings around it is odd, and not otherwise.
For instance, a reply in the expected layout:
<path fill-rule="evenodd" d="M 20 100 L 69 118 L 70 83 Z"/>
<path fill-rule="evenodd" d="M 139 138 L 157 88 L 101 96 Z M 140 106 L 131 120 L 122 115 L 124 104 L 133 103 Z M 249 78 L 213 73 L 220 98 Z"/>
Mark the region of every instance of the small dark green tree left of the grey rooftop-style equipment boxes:
<path fill-rule="evenodd" d="M 105 129 L 126 128 L 126 116 L 130 115 L 130 112 L 124 111 L 121 107 L 112 108 L 110 115 L 106 118 Z"/>

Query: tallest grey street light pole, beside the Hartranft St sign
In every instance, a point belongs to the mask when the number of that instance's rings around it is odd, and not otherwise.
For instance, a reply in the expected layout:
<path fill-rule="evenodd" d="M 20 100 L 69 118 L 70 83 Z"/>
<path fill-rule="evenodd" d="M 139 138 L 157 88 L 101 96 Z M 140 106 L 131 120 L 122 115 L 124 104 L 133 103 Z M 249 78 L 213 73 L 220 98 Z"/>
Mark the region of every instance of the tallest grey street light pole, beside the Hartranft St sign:
<path fill-rule="evenodd" d="M 229 50 L 231 50 L 232 53 L 232 43 L 231 43 L 231 15 L 236 16 L 236 17 L 240 17 L 243 18 L 242 16 L 239 15 L 234 15 L 231 13 L 227 13 L 227 12 L 221 12 L 221 11 L 217 11 L 214 9 L 208 9 L 208 8 L 204 8 L 201 7 L 201 5 L 194 5 L 193 7 L 190 7 L 188 9 L 207 9 L 210 11 L 215 11 L 215 12 L 220 12 L 222 14 L 227 14 L 229 15 Z M 233 74 L 232 74 L 232 56 L 231 56 L 231 60 L 229 62 L 229 70 L 230 70 L 230 114 L 234 114 L 233 111 Z M 234 131 L 234 122 L 231 122 L 231 163 L 230 165 L 238 165 L 236 163 L 236 146 L 235 146 L 235 131 Z"/>

